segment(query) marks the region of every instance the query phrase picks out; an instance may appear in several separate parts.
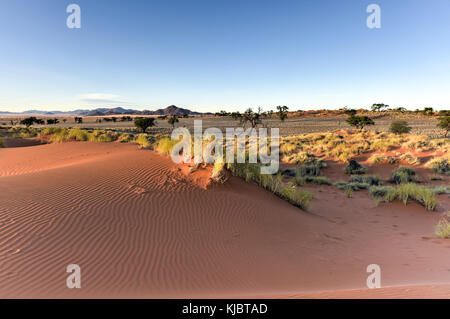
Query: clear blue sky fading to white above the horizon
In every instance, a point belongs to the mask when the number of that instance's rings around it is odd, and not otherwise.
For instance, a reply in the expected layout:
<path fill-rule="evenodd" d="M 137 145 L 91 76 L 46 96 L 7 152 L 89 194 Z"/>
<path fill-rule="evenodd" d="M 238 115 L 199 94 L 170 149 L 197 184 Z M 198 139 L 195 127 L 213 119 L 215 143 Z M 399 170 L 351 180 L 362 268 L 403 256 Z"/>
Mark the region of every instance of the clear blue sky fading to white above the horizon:
<path fill-rule="evenodd" d="M 2 0 L 0 110 L 449 109 L 449 36 L 448 0 Z"/>

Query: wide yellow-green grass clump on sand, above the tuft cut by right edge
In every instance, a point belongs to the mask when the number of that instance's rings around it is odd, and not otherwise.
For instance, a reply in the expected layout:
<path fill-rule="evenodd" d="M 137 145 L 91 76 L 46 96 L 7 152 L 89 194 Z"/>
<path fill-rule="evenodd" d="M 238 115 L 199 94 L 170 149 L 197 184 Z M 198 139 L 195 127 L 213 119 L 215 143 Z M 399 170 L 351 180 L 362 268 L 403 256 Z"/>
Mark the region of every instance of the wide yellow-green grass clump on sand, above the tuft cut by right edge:
<path fill-rule="evenodd" d="M 369 191 L 377 203 L 400 200 L 406 205 L 409 200 L 415 200 L 427 210 L 431 211 L 436 207 L 436 194 L 427 187 L 413 183 L 401 184 L 397 187 L 372 186 Z"/>

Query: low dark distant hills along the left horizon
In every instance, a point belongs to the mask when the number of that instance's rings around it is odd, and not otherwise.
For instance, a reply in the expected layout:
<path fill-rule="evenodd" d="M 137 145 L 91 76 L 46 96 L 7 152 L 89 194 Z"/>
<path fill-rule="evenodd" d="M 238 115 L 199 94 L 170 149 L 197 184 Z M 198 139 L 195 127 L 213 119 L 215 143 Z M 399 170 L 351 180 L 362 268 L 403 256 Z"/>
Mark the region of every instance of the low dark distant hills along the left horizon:
<path fill-rule="evenodd" d="M 184 116 L 184 115 L 211 115 L 212 113 L 200 113 L 193 112 L 188 109 L 183 109 L 177 107 L 175 105 L 170 105 L 164 109 L 158 109 L 156 111 L 139 111 L 133 109 L 124 109 L 122 107 L 115 108 L 97 108 L 94 110 L 74 110 L 68 112 L 61 111 L 39 111 L 39 110 L 29 110 L 24 112 L 2 112 L 0 111 L 0 115 L 24 115 L 24 114 L 33 114 L 33 115 L 80 115 L 80 116 L 110 116 L 110 115 L 176 115 L 176 116 Z"/>

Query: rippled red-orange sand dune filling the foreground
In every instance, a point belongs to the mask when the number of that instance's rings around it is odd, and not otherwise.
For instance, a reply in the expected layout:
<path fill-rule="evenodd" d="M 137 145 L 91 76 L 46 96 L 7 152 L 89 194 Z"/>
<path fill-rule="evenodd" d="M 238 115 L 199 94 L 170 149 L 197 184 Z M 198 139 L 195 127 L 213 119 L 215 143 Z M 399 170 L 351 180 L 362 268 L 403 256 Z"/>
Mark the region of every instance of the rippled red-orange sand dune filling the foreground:
<path fill-rule="evenodd" d="M 205 190 L 202 173 L 195 176 L 135 145 L 0 149 L 0 297 L 450 292 L 450 242 L 432 237 L 448 195 L 430 213 L 311 186 L 305 212 L 236 178 Z M 66 287 L 72 263 L 81 267 L 81 289 Z M 381 266 L 387 288 L 364 289 L 369 264 Z"/>

